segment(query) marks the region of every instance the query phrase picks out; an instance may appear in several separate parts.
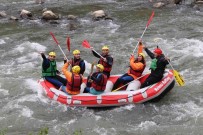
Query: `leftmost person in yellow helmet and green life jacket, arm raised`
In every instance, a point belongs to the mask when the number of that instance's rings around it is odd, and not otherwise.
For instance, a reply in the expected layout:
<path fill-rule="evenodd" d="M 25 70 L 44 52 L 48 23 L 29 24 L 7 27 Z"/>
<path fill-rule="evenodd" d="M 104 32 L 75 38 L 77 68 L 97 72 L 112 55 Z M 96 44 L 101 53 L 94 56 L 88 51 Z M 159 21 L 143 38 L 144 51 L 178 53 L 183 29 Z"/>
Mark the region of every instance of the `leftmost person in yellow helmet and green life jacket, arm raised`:
<path fill-rule="evenodd" d="M 62 78 L 58 74 L 60 72 L 57 70 L 56 65 L 56 53 L 49 52 L 49 56 L 46 58 L 44 53 L 41 53 L 43 58 L 42 62 L 42 77 L 48 82 L 52 83 L 57 89 L 61 86 L 66 85 L 67 81 L 65 78 Z"/>

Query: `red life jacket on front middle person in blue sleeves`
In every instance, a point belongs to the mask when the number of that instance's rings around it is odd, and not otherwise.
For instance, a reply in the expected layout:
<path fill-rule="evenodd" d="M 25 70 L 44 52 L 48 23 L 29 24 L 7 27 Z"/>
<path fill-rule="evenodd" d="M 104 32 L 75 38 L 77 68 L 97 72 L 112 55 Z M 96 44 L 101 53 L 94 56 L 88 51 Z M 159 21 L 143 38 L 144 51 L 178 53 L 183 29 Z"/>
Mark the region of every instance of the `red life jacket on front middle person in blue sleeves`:
<path fill-rule="evenodd" d="M 106 83 L 107 83 L 107 76 L 103 73 L 96 73 L 95 77 L 97 77 L 99 74 L 102 75 L 102 79 L 99 83 L 96 83 L 95 81 L 92 82 L 92 87 L 97 90 L 97 91 L 104 91 L 106 88 Z"/>

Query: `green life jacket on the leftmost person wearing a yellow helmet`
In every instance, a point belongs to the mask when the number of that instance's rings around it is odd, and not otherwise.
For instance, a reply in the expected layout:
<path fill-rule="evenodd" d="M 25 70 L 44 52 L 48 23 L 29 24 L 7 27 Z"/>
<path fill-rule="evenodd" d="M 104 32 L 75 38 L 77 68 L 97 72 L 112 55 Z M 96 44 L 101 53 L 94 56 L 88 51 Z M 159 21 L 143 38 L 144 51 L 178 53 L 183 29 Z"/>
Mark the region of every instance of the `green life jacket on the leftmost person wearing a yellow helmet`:
<path fill-rule="evenodd" d="M 50 61 L 49 67 L 47 69 L 42 68 L 42 76 L 56 76 L 56 61 Z"/>

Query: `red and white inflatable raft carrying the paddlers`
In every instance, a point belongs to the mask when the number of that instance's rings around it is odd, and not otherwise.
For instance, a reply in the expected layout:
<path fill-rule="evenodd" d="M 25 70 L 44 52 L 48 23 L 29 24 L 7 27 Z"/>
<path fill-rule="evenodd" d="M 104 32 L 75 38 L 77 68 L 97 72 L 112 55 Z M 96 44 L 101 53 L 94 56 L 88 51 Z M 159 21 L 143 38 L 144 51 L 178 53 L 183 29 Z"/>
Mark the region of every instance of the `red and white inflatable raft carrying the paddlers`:
<path fill-rule="evenodd" d="M 144 75 L 139 81 L 131 82 L 122 90 L 111 92 L 113 84 L 120 75 L 110 76 L 105 92 L 100 95 L 92 95 L 82 93 L 85 88 L 84 82 L 81 85 L 81 93 L 78 95 L 67 95 L 62 91 L 57 90 L 51 83 L 44 79 L 39 80 L 46 95 L 53 100 L 56 100 L 67 106 L 83 106 L 83 107 L 106 107 L 106 106 L 121 106 L 127 104 L 144 103 L 147 101 L 158 101 L 165 96 L 175 84 L 173 71 L 166 70 L 162 80 L 151 86 L 139 89 L 140 83 L 144 82 L 148 74 Z M 86 81 L 86 80 L 85 80 Z"/>

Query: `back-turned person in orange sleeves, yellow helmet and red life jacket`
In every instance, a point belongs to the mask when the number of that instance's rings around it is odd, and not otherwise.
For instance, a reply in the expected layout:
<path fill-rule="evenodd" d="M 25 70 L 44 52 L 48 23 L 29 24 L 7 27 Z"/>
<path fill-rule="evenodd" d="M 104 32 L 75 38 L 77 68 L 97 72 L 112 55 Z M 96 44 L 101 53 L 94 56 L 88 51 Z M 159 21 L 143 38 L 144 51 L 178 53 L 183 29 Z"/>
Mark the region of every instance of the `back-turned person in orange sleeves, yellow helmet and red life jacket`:
<path fill-rule="evenodd" d="M 62 67 L 62 72 L 67 79 L 66 87 L 62 87 L 62 91 L 68 95 L 77 95 L 80 93 L 80 87 L 83 82 L 83 76 L 80 73 L 80 67 L 78 65 L 72 67 L 72 72 L 68 71 L 68 66 L 71 61 L 66 62 Z"/>

